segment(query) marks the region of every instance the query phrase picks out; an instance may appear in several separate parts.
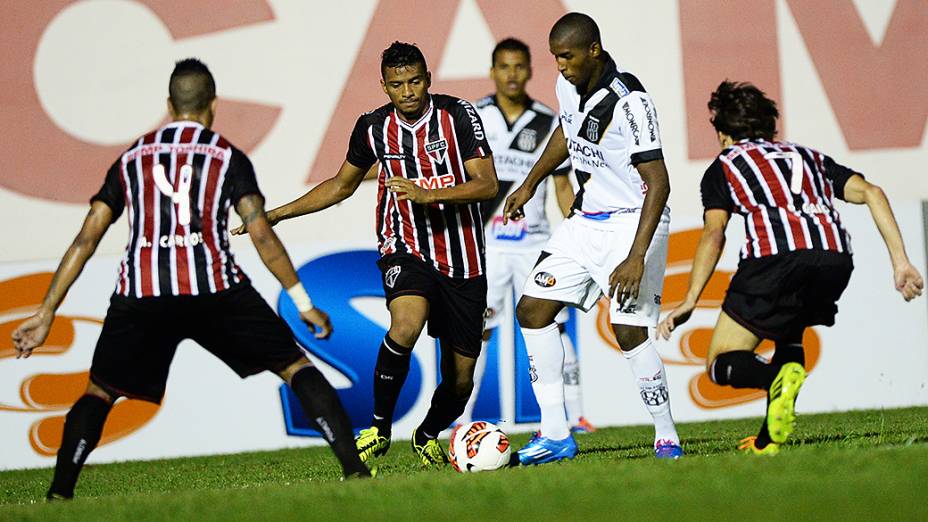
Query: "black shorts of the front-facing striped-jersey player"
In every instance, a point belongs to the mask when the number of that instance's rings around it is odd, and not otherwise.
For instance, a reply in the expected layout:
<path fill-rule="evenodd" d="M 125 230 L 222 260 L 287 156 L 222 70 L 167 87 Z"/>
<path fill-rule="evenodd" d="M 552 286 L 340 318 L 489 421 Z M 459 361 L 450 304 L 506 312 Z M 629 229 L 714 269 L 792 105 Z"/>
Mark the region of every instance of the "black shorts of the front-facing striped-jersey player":
<path fill-rule="evenodd" d="M 465 357 L 476 359 L 480 355 L 487 311 L 486 276 L 451 278 L 407 254 L 387 255 L 377 266 L 383 273 L 387 306 L 404 295 L 425 297 L 429 302 L 429 335 Z"/>

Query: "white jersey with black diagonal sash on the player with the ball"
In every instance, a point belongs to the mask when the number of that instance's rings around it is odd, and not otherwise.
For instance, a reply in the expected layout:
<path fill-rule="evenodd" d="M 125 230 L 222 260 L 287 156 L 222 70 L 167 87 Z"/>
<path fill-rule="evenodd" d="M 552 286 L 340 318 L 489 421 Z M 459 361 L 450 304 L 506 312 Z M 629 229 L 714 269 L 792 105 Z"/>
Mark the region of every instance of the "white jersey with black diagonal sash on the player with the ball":
<path fill-rule="evenodd" d="M 641 214 L 648 187 L 635 166 L 664 155 L 651 96 L 637 78 L 619 71 L 608 55 L 606 59 L 602 78 L 586 95 L 581 97 L 563 76 L 558 76 L 556 90 L 561 127 L 580 184 L 572 214 L 615 223 L 622 215 L 637 219 Z"/>

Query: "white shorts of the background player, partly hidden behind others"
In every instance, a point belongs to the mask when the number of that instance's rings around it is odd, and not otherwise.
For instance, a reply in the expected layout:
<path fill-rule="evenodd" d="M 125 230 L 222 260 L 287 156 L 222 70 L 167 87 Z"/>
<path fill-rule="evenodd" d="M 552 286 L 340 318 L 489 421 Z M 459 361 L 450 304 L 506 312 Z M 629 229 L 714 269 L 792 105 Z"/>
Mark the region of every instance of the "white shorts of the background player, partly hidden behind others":
<path fill-rule="evenodd" d="M 522 297 L 522 288 L 531 272 L 535 262 L 538 261 L 539 250 L 527 249 L 523 251 L 506 251 L 487 248 L 487 315 L 485 330 L 492 330 L 499 326 L 500 315 L 506 309 L 506 301 L 513 299 L 518 303 Z M 513 294 L 515 294 L 513 296 Z M 515 310 L 515 307 L 513 307 Z M 558 323 L 567 322 L 567 309 L 557 314 Z"/>

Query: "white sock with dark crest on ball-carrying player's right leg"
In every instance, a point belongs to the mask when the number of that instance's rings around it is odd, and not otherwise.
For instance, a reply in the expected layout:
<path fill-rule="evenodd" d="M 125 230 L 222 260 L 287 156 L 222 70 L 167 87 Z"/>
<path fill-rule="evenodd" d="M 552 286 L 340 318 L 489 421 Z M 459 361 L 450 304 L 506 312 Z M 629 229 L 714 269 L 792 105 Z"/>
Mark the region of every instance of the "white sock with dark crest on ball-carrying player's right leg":
<path fill-rule="evenodd" d="M 667 388 L 664 363 L 651 339 L 641 343 L 634 350 L 623 351 L 622 355 L 628 360 L 638 389 L 641 390 L 641 399 L 654 418 L 654 441 L 666 439 L 679 444 L 680 437 L 670 414 L 670 391 Z"/>

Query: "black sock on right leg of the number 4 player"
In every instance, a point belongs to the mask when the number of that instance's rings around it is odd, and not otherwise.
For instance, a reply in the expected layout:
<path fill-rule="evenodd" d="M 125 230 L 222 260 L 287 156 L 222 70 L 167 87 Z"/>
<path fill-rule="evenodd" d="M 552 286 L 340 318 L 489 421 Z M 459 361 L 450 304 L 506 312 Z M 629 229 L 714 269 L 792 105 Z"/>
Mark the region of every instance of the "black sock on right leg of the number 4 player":
<path fill-rule="evenodd" d="M 301 368 L 290 379 L 290 388 L 300 400 L 303 412 L 314 423 L 332 447 L 342 464 L 345 475 L 369 475 L 367 466 L 358 457 L 354 432 L 348 415 L 338 400 L 338 394 L 315 366 Z"/>

